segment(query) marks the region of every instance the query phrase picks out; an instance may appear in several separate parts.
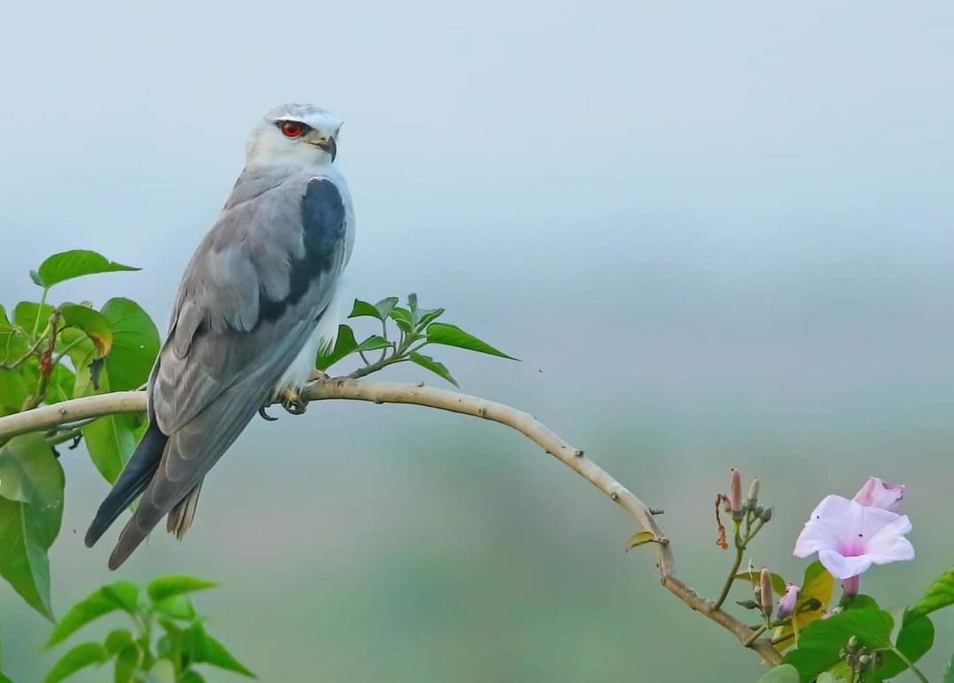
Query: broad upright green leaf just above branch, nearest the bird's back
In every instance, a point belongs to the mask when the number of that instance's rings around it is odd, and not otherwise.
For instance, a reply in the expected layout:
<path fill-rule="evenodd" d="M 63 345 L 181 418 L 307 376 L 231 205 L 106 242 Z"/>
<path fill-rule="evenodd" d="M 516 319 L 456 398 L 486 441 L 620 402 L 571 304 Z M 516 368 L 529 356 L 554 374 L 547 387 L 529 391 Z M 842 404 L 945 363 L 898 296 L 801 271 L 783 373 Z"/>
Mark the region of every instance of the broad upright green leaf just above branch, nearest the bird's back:
<path fill-rule="evenodd" d="M 102 308 L 113 329 L 113 346 L 104 369 L 111 391 L 137 389 L 149 380 L 159 353 L 159 331 L 134 300 L 111 299 Z"/>

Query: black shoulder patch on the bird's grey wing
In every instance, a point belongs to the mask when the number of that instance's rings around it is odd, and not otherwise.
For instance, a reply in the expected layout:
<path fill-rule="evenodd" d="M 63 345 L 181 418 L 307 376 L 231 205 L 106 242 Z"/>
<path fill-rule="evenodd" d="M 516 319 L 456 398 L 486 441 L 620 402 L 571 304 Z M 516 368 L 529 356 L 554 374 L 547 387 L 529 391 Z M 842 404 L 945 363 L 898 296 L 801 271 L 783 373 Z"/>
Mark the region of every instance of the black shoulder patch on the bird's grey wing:
<path fill-rule="evenodd" d="M 278 319 L 285 308 L 296 303 L 313 279 L 331 270 L 341 258 L 344 238 L 344 200 L 335 184 L 322 177 L 308 181 L 301 197 L 301 228 L 304 231 L 304 257 L 292 262 L 288 296 L 280 301 L 259 299 L 259 323 Z"/>

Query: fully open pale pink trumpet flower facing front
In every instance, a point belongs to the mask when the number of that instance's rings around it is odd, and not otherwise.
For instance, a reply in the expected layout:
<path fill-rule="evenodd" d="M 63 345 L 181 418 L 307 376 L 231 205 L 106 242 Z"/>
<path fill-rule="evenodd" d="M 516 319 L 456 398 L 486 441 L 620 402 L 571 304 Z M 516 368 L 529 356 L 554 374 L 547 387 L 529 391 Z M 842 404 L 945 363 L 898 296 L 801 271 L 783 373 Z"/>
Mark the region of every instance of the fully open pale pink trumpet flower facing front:
<path fill-rule="evenodd" d="M 904 538 L 910 530 L 906 515 L 827 496 L 798 534 L 795 555 L 818 552 L 825 569 L 836 578 L 849 579 L 871 565 L 914 559 L 914 548 Z"/>

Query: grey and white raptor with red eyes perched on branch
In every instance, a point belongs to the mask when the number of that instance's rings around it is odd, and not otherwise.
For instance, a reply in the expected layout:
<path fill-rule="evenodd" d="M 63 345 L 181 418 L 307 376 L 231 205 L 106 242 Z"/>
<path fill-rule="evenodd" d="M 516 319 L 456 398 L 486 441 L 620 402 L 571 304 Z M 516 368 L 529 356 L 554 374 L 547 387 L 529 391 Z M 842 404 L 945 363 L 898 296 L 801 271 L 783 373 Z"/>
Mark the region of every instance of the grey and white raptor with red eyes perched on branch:
<path fill-rule="evenodd" d="M 179 284 L 146 384 L 148 426 L 99 506 L 88 548 L 139 498 L 109 559 L 117 569 L 163 516 L 181 538 L 202 481 L 263 406 L 303 409 L 319 349 L 341 321 L 354 207 L 334 164 L 342 118 L 310 104 L 273 109 Z"/>

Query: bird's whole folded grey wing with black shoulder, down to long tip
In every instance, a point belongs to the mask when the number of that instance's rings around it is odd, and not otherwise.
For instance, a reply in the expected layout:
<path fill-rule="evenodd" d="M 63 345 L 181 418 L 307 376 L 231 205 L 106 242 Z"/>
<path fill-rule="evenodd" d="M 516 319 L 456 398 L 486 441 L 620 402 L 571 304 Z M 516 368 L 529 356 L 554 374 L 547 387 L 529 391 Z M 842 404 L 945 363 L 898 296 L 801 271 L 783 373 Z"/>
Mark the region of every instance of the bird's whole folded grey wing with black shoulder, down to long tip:
<path fill-rule="evenodd" d="M 342 193 L 293 177 L 226 211 L 182 279 L 149 387 L 168 435 L 110 559 L 116 567 L 197 486 L 314 331 L 346 259 Z"/>

